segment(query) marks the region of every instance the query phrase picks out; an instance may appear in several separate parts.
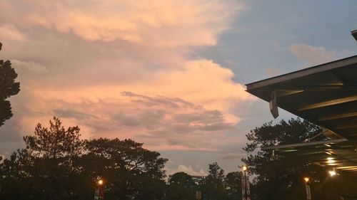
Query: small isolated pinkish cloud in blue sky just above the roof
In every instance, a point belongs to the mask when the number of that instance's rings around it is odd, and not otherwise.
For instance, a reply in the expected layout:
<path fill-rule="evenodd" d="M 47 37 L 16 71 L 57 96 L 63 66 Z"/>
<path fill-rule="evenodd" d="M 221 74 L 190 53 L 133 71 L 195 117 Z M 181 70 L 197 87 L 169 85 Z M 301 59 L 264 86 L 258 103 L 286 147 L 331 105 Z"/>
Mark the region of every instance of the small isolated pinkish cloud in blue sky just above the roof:
<path fill-rule="evenodd" d="M 326 51 L 322 46 L 296 44 L 290 46 L 289 50 L 296 58 L 305 61 L 308 65 L 320 65 L 335 59 L 334 53 Z"/>

